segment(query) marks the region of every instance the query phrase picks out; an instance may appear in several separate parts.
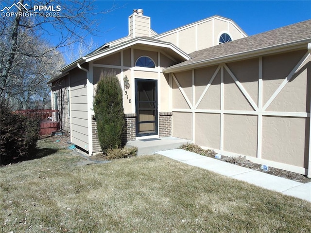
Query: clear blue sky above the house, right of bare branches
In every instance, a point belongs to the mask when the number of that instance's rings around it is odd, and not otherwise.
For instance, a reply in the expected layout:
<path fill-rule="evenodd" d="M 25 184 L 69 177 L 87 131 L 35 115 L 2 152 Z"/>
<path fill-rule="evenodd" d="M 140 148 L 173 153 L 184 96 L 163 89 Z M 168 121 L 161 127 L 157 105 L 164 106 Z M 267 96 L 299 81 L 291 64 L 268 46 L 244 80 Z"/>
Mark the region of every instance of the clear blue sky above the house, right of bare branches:
<path fill-rule="evenodd" d="M 311 19 L 311 0 L 305 1 L 251 1 L 251 0 L 97 0 L 96 5 L 108 9 L 113 4 L 119 8 L 101 19 L 101 28 L 107 31 L 93 37 L 99 45 L 127 36 L 128 16 L 133 9 L 142 8 L 151 17 L 151 27 L 157 33 L 208 18 L 214 15 L 230 18 L 248 35 L 255 35 L 296 22 Z"/>

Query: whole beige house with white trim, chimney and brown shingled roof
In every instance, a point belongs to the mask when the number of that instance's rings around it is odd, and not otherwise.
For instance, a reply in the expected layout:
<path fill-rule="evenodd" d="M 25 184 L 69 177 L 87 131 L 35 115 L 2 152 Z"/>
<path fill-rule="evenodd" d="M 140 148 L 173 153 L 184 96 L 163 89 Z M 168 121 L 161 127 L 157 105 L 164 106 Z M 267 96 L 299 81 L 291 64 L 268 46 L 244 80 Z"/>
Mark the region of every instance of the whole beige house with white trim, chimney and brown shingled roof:
<path fill-rule="evenodd" d="M 128 36 L 49 81 L 72 143 L 100 152 L 93 96 L 101 72 L 113 71 L 123 89 L 124 140 L 185 138 L 311 176 L 311 20 L 249 37 L 219 16 L 162 34 L 150 25 L 134 10 Z"/>

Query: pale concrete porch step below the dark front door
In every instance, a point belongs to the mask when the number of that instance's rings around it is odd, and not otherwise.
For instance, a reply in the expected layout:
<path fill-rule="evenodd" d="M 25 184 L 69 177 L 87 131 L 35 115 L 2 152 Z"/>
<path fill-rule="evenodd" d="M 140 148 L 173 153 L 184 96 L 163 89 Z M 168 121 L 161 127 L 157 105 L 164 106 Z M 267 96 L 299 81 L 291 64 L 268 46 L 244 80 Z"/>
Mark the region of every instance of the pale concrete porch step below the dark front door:
<path fill-rule="evenodd" d="M 192 141 L 175 137 L 164 137 L 129 141 L 126 143 L 126 146 L 138 147 L 137 155 L 153 155 L 155 151 L 176 149 L 187 143 L 192 143 Z"/>

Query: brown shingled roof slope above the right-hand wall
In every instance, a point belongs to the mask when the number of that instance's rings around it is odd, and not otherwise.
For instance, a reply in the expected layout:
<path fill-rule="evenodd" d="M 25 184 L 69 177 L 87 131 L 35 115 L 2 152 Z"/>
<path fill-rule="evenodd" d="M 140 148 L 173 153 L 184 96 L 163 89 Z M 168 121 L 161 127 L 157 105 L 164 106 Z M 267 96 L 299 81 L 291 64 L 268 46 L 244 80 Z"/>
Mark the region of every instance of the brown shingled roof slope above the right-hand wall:
<path fill-rule="evenodd" d="M 207 63 L 212 61 L 271 50 L 299 42 L 311 42 L 311 19 L 193 52 L 189 54 L 190 60 L 168 67 L 164 69 L 164 72 L 192 69 L 201 65 L 207 65 Z"/>

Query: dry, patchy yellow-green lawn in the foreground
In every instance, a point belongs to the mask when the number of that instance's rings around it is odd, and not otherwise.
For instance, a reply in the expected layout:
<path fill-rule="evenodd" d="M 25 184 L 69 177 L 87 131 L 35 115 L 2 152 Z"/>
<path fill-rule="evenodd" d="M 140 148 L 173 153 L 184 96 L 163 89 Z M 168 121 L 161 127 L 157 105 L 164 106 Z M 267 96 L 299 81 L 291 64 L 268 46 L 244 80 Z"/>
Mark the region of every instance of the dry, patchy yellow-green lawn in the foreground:
<path fill-rule="evenodd" d="M 311 203 L 162 156 L 79 165 L 49 139 L 35 155 L 0 167 L 0 232 L 311 232 Z"/>

